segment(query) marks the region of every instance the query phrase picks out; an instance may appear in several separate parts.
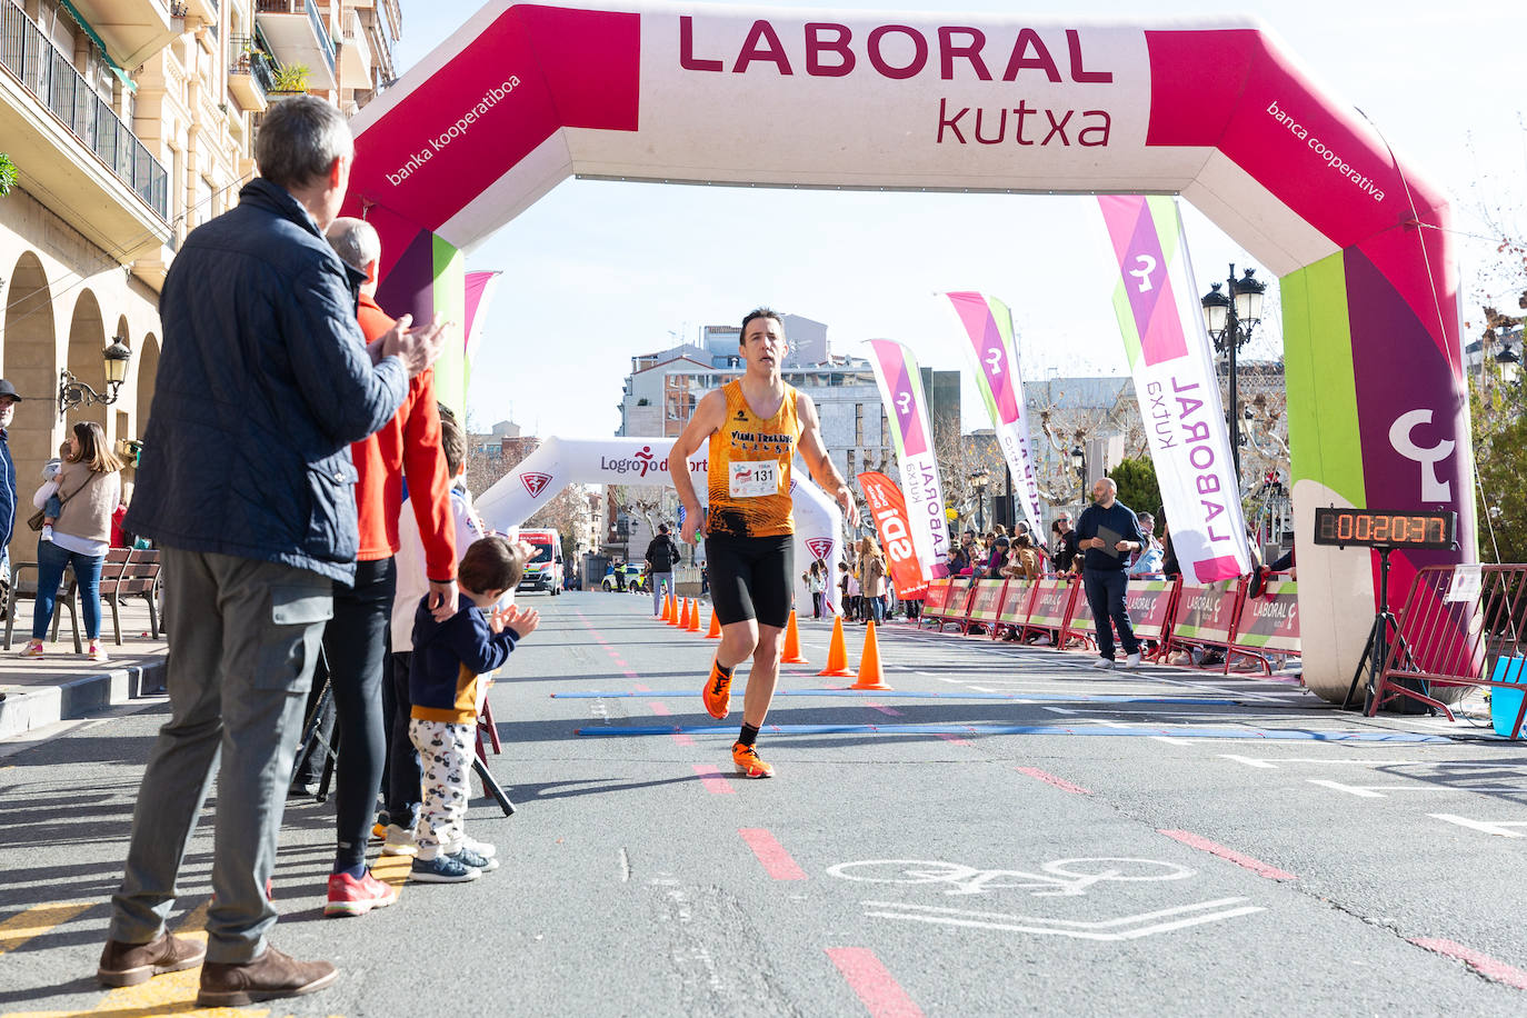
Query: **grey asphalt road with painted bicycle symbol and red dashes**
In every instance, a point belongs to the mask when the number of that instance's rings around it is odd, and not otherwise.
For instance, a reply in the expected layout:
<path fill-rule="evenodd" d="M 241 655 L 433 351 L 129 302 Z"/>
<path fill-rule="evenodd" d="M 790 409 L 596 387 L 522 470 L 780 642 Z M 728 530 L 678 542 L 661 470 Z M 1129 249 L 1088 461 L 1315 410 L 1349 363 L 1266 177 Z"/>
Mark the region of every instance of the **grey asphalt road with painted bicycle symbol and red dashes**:
<path fill-rule="evenodd" d="M 812 665 L 786 667 L 800 694 L 759 742 L 779 777 L 748 781 L 699 704 L 710 643 L 646 598 L 533 603 L 544 626 L 492 694 L 519 810 L 469 820 L 502 868 L 324 919 L 331 806 L 293 801 L 273 943 L 342 978 L 243 1013 L 1527 1012 L 1519 745 L 904 624 L 880 638 L 892 691 L 820 694 L 847 679 L 815 675 L 828 629 L 806 623 Z M 162 719 L 150 702 L 0 759 L 0 1016 L 191 1010 L 195 972 L 92 978 Z"/>

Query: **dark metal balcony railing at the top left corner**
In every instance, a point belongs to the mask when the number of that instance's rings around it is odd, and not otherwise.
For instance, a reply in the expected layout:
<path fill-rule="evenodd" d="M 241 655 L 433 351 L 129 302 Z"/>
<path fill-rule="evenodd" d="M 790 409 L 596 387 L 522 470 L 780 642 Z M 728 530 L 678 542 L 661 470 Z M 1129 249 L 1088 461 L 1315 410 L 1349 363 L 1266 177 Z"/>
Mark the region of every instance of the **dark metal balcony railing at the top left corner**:
<path fill-rule="evenodd" d="M 0 64 L 64 127 L 169 221 L 169 174 L 73 63 L 11 0 L 0 0 Z"/>

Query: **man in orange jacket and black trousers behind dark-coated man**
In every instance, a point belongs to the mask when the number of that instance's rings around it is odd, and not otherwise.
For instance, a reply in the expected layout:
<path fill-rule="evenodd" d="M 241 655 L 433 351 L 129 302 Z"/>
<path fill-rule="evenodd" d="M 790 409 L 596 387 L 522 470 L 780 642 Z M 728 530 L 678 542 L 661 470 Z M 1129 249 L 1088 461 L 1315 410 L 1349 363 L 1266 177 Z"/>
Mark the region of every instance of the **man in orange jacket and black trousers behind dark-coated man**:
<path fill-rule="evenodd" d="M 357 317 L 360 331 L 371 343 L 392 328 L 392 319 L 376 302 L 382 241 L 370 223 L 350 217 L 334 220 L 325 235 L 341 261 L 366 273 Z M 397 891 L 366 868 L 366 838 L 386 763 L 382 679 L 405 476 L 408 501 L 414 505 L 425 540 L 431 607 L 437 620 L 457 612 L 455 520 L 450 514 L 450 478 L 440 447 L 432 369 L 414 375 L 397 415 L 382 430 L 354 443 L 350 455 L 359 475 L 356 585 L 348 591 L 334 588 L 334 617 L 324 629 L 341 746 L 334 783 L 339 846 L 328 878 L 325 916 L 360 916 L 397 900 Z"/>

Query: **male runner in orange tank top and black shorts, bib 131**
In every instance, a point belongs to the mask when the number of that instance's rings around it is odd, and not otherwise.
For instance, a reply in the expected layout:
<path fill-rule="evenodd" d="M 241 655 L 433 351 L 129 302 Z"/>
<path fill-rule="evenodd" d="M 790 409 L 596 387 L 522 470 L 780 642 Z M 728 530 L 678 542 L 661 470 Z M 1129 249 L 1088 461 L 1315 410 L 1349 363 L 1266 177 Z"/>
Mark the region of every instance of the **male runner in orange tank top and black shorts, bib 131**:
<path fill-rule="evenodd" d="M 736 382 L 707 392 L 669 452 L 669 473 L 684 504 L 680 539 L 695 540 L 699 499 L 689 479 L 689 456 L 710 441 L 710 516 L 705 559 L 710 598 L 721 621 L 721 646 L 701 696 L 718 720 L 731 705 L 731 672 L 748 656 L 753 672 L 742 699 L 742 733 L 731 746 L 738 771 L 774 777 L 754 743 L 774 699 L 779 656 L 789 621 L 796 575 L 796 522 L 789 470 L 800 452 L 812 479 L 858 525 L 858 508 L 822 444 L 822 423 L 811 397 L 785 385 L 780 366 L 788 343 L 779 314 L 768 308 L 742 319 L 739 348 L 747 369 Z"/>

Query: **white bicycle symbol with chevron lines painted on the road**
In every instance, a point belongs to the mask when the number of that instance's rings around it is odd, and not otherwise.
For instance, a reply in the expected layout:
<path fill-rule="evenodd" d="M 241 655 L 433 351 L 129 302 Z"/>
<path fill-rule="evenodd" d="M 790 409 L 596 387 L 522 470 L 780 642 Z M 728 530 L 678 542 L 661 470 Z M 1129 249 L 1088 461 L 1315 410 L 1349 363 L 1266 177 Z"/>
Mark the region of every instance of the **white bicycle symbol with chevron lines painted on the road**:
<path fill-rule="evenodd" d="M 866 884 L 942 885 L 945 896 L 959 897 L 997 891 L 1028 891 L 1031 897 L 1081 897 L 1099 884 L 1167 882 L 1196 876 L 1196 870 L 1176 862 L 1132 858 L 1052 859 L 1038 868 L 1038 873 L 1029 873 L 1025 870 L 980 870 L 960 862 L 927 859 L 861 859 L 838 862 L 828 868 L 828 875 Z M 1135 940 L 1264 911 L 1260 905 L 1248 902 L 1246 897 L 1220 897 L 1102 920 L 1055 919 L 910 902 L 866 900 L 863 905 L 866 916 L 878 919 L 1080 940 Z"/>

